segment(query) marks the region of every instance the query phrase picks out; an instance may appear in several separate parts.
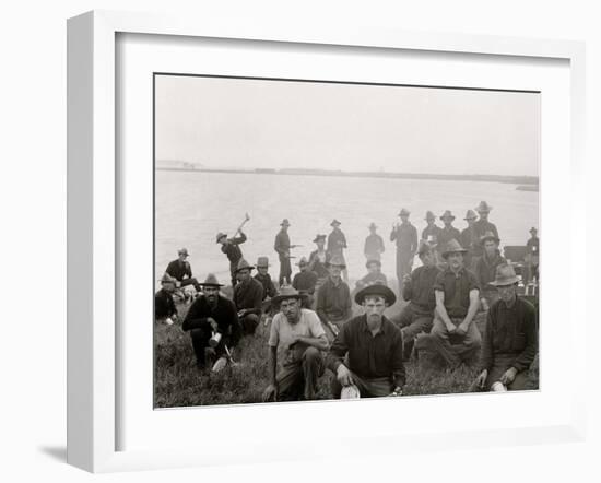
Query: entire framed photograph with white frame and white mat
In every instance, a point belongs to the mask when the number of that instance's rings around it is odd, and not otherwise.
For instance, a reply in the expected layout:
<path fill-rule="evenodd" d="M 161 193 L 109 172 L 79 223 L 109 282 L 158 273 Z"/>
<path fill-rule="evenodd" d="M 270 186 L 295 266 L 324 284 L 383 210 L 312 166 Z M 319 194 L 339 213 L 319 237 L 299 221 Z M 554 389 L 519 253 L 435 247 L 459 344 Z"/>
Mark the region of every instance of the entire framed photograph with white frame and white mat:
<path fill-rule="evenodd" d="M 70 463 L 581 437 L 581 44 L 68 28 Z"/>

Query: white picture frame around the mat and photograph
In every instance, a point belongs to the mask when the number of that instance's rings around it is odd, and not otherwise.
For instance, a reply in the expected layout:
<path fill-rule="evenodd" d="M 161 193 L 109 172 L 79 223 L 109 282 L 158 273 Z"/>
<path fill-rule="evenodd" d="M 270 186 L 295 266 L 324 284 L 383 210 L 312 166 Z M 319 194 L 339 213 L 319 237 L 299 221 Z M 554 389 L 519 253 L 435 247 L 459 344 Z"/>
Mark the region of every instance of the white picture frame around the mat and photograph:
<path fill-rule="evenodd" d="M 118 129 L 116 85 L 116 38 L 119 34 L 169 35 L 177 38 L 238 39 L 240 42 L 293 43 L 340 48 L 370 48 L 512 57 L 522 62 L 529 59 L 555 59 L 569 62 L 569 163 L 570 189 L 584 173 L 584 115 L 585 115 L 585 47 L 582 43 L 541 40 L 493 36 L 455 34 L 426 34 L 378 31 L 376 28 L 332 30 L 291 27 L 290 25 L 229 25 L 211 19 L 174 19 L 164 15 L 145 15 L 108 11 L 89 12 L 68 23 L 68 462 L 92 472 L 135 469 L 177 468 L 186 466 L 226 464 L 229 456 L 224 446 L 211 450 L 177 447 L 173 440 L 164 448 L 119 450 L 118 433 L 123 424 L 117 410 L 122 386 L 118 360 L 121 341 L 117 315 L 119 311 L 120 279 L 117 247 L 122 243 L 118 187 L 116 130 Z M 172 37 L 173 38 L 173 37 Z M 127 60 L 126 60 L 127 61 Z M 544 160 L 543 160 L 544 164 Z M 544 180 L 542 190 L 545 190 Z M 585 212 L 576 207 L 585 205 L 584 193 L 571 190 L 571 203 L 566 208 L 571 220 L 569 246 L 586 239 Z M 568 255 L 569 258 L 569 255 Z M 576 280 L 584 280 L 581 264 L 567 263 L 568 286 L 575 291 Z M 553 275 L 551 275 L 553 276 Z M 574 299 L 575 293 L 570 293 Z M 544 305 L 543 305 L 544 307 Z M 568 340 L 576 340 L 586 330 L 585 308 L 569 304 L 570 323 L 564 328 Z M 447 441 L 457 447 L 543 443 L 546 440 L 581 440 L 585 434 L 585 357 L 584 351 L 568 349 L 573 357 L 574 380 L 569 385 L 569 404 L 547 424 L 521 425 L 504 429 L 468 428 L 467 431 L 438 431 L 425 425 L 420 434 L 413 434 L 411 444 L 392 435 L 372 435 L 374 452 L 400 453 L 410 447 L 414 450 L 444 448 Z M 579 370 L 582 369 L 582 370 Z M 447 399 L 448 400 L 448 399 Z M 434 398 L 423 404 L 435 404 Z M 506 400 L 507 401 L 507 400 Z M 392 401 L 363 402 L 377 404 L 378 411 L 391 411 Z M 357 405 L 358 407 L 358 405 Z M 296 405 L 296 411 L 299 407 Z M 316 414 L 330 411 L 331 407 L 311 404 L 303 411 Z M 281 417 L 290 416 L 293 407 L 222 408 L 238 417 L 244 411 L 254 411 L 266 417 L 267 411 L 278 411 Z M 182 410 L 180 410 L 182 411 Z M 217 410 L 211 410 L 213 415 Z M 186 417 L 184 411 L 184 419 Z M 190 413 L 188 413 L 190 414 Z M 209 413 L 204 412 L 204 416 Z M 191 416 L 189 416 L 191 417 Z M 197 416 L 202 417 L 202 416 Z M 369 431 L 369 428 L 365 429 Z M 326 448 L 331 456 L 364 452 L 362 434 L 358 437 L 341 435 L 340 449 Z M 240 436 L 241 437 L 241 436 Z M 269 441 L 257 435 L 260 460 L 282 460 L 323 456 L 322 450 L 304 441 Z M 244 439 L 244 438 L 243 438 Z M 405 438 L 406 439 L 406 438 Z M 327 445 L 326 445 L 327 446 Z M 244 451 L 238 461 L 245 460 Z M 248 461 L 257 461 L 257 458 Z"/>

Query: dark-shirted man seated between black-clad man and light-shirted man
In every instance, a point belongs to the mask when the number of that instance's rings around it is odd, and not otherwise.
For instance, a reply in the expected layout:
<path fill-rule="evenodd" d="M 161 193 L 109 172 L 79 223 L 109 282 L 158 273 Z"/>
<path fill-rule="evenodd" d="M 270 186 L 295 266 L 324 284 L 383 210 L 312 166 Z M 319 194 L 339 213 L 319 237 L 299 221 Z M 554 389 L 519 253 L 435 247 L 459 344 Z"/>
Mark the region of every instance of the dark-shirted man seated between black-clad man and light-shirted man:
<path fill-rule="evenodd" d="M 240 258 L 235 274 L 238 283 L 234 287 L 234 304 L 245 335 L 252 335 L 262 313 L 263 285 L 250 276 L 255 267 Z"/>

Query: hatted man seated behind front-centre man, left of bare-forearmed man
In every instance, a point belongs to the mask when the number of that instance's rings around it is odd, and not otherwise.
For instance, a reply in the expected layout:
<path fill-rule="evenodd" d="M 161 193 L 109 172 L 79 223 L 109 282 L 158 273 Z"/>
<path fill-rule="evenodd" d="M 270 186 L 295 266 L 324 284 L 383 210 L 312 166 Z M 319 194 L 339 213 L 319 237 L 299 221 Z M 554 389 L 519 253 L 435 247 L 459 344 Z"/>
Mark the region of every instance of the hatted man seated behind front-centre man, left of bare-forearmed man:
<path fill-rule="evenodd" d="M 411 275 L 403 280 L 403 298 L 409 301 L 399 318 L 404 341 L 404 360 L 409 358 L 413 349 L 413 340 L 422 332 L 429 333 L 434 319 L 434 283 L 440 270 L 435 263 L 434 247 L 426 241 L 420 243 L 417 256 L 422 260 L 422 267 L 417 267 Z M 397 321 L 397 320 L 394 320 Z"/>

